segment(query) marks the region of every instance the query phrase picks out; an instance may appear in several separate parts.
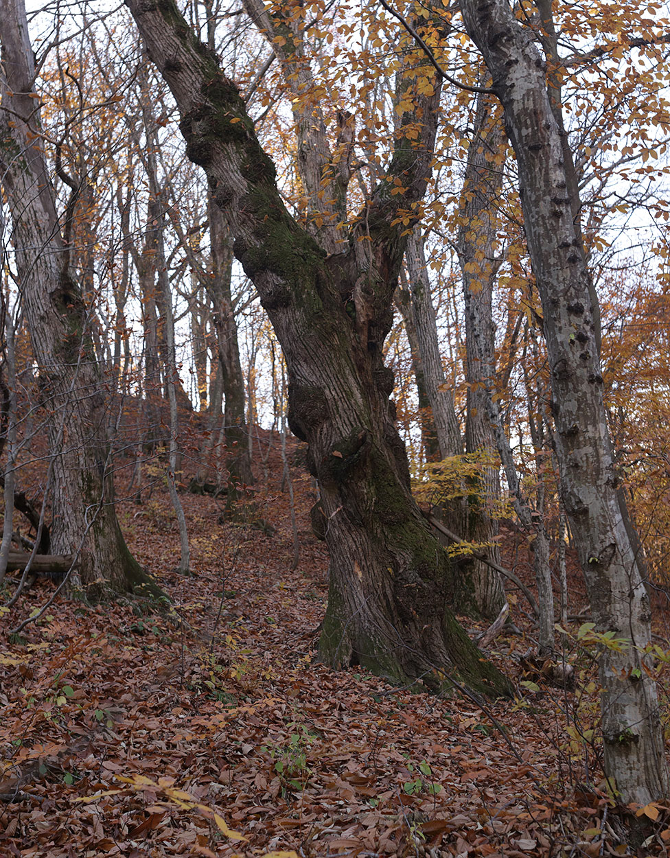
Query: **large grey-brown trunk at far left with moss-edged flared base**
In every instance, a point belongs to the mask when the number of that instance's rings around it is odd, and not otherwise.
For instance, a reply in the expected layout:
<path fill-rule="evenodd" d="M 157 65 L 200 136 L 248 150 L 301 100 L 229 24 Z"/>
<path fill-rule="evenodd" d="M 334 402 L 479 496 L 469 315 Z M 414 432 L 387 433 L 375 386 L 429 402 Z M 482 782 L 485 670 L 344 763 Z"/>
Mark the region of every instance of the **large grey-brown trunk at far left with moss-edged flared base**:
<path fill-rule="evenodd" d="M 9 108 L 0 113 L 0 164 L 41 405 L 49 414 L 51 551 L 78 553 L 76 583 L 91 595 L 140 589 L 160 594 L 131 557 L 114 510 L 104 384 L 46 170 L 23 0 L 3 5 L 0 43 L 2 104 Z"/>

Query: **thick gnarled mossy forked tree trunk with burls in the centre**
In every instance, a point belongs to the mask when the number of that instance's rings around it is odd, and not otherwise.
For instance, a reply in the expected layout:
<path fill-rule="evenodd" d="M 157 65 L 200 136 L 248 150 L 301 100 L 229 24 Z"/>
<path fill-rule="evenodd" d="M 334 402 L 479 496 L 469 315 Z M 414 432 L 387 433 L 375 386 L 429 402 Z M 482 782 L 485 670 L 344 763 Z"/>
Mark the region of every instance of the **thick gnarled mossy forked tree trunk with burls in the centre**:
<path fill-rule="evenodd" d="M 284 351 L 289 425 L 309 444 L 331 558 L 323 658 L 394 680 L 437 684 L 452 676 L 480 692 L 509 692 L 450 611 L 454 571 L 413 501 L 389 402 L 393 375 L 383 366 L 407 228 L 392 224 L 426 190 L 437 83 L 431 95 L 413 94 L 410 69 L 423 60 L 407 51 L 399 86 L 413 109 L 401 118 L 387 177 L 329 255 L 287 212 L 244 101 L 173 0 L 126 5 L 177 101 L 186 153 L 226 210 L 235 256 Z M 404 195 L 390 193 L 393 178 Z"/>

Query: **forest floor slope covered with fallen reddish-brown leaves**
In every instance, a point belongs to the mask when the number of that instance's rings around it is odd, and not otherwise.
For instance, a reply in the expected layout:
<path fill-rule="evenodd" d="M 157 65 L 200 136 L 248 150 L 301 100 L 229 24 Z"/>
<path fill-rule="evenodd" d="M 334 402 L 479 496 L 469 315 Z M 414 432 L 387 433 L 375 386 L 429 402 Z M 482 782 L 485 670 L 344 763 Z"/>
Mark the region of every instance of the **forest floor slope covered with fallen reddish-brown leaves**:
<path fill-rule="evenodd" d="M 119 502 L 172 618 L 134 600 L 58 599 L 9 635 L 49 598 L 46 580 L 0 614 L 2 858 L 667 854 L 663 808 L 642 812 L 650 827 L 632 849 L 607 798 L 593 662 L 574 637 L 574 691 L 528 673 L 520 594 L 510 601 L 521 633 L 504 631 L 487 651 L 515 681 L 513 701 L 438 698 L 317 663 L 328 560 L 311 533 L 311 480 L 292 468 L 292 571 L 276 449 L 259 476 L 257 517 L 271 535 L 221 524 L 220 502 L 181 494 L 194 577 L 173 571 L 167 492 Z M 503 554 L 530 584 L 511 530 Z M 574 612 L 585 602 L 574 561 L 570 601 Z M 657 614 L 667 649 L 668 613 Z"/>

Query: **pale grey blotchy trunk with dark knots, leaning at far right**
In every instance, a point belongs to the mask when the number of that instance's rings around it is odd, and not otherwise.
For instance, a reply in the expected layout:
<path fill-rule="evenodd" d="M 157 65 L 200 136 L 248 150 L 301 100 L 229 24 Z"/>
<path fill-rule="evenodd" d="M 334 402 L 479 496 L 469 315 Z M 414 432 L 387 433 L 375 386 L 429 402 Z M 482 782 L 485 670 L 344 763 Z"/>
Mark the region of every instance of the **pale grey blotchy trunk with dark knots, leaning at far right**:
<path fill-rule="evenodd" d="M 644 588 L 625 503 L 619 496 L 603 404 L 597 301 L 576 233 L 560 129 L 533 34 L 504 0 L 462 0 L 504 106 L 542 301 L 552 378 L 560 491 L 582 564 L 596 631 L 627 643 L 600 656 L 605 770 L 624 803 L 667 797 L 655 682 L 643 650 L 651 641 Z"/>

